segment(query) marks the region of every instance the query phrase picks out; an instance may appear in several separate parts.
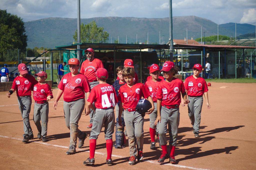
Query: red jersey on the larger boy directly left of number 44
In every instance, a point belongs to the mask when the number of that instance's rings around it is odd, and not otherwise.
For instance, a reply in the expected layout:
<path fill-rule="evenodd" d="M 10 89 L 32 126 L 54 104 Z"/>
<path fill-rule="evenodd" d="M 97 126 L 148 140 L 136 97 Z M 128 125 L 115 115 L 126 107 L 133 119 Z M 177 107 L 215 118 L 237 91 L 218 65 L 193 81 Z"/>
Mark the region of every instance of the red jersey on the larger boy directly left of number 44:
<path fill-rule="evenodd" d="M 65 74 L 58 88 L 64 91 L 63 99 L 66 102 L 82 99 L 84 98 L 84 92 L 91 91 L 87 77 L 81 73 L 75 76 L 72 76 L 72 73 Z"/>

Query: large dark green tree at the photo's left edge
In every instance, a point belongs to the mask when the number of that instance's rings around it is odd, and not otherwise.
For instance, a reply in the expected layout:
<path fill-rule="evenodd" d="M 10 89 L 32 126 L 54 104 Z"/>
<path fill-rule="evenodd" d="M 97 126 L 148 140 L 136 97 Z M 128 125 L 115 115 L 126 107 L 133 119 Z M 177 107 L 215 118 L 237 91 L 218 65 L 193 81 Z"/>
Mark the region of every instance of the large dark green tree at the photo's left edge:
<path fill-rule="evenodd" d="M 7 50 L 27 47 L 27 35 L 23 20 L 6 10 L 0 10 L 0 23 L 0 59 L 5 60 Z"/>

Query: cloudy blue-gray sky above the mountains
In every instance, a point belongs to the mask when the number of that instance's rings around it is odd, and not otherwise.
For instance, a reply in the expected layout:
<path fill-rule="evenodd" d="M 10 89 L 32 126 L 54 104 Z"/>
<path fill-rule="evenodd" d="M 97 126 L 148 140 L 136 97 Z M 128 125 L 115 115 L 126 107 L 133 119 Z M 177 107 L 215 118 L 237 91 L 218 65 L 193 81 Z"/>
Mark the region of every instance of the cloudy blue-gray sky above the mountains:
<path fill-rule="evenodd" d="M 169 0 L 80 0 L 81 18 L 169 17 Z M 0 0 L 0 9 L 24 21 L 77 18 L 77 0 Z M 173 16 L 198 16 L 217 24 L 256 22 L 255 0 L 173 0 Z"/>

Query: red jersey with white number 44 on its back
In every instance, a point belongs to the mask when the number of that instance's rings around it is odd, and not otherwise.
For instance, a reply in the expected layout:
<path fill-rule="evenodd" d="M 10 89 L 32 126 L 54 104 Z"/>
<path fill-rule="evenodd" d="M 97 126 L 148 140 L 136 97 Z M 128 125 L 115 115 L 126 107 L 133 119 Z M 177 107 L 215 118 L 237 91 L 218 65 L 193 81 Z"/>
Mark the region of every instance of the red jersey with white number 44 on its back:
<path fill-rule="evenodd" d="M 105 83 L 94 86 L 87 101 L 95 102 L 95 107 L 98 109 L 107 109 L 114 107 L 118 99 L 113 86 Z"/>

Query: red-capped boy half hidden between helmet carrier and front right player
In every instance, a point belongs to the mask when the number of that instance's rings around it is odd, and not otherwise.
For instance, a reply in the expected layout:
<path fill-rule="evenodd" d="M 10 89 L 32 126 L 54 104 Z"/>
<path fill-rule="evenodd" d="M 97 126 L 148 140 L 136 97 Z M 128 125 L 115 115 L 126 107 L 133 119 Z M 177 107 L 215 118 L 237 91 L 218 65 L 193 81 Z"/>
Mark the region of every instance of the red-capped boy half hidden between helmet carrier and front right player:
<path fill-rule="evenodd" d="M 152 150 L 156 149 L 156 142 L 155 142 L 155 135 L 156 135 L 155 132 L 157 128 L 157 125 L 155 125 L 156 116 L 157 116 L 156 91 L 157 91 L 158 84 L 162 81 L 161 79 L 159 79 L 159 73 L 160 73 L 159 66 L 157 64 L 154 64 L 153 66 L 149 67 L 149 74 L 151 79 L 145 83 L 145 86 L 148 87 L 148 90 L 151 93 L 150 96 L 153 99 L 154 107 L 155 107 L 154 111 L 149 115 L 149 119 L 150 119 L 149 133 L 151 138 L 150 149 Z M 157 132 L 158 132 L 158 128 L 157 128 Z"/>

